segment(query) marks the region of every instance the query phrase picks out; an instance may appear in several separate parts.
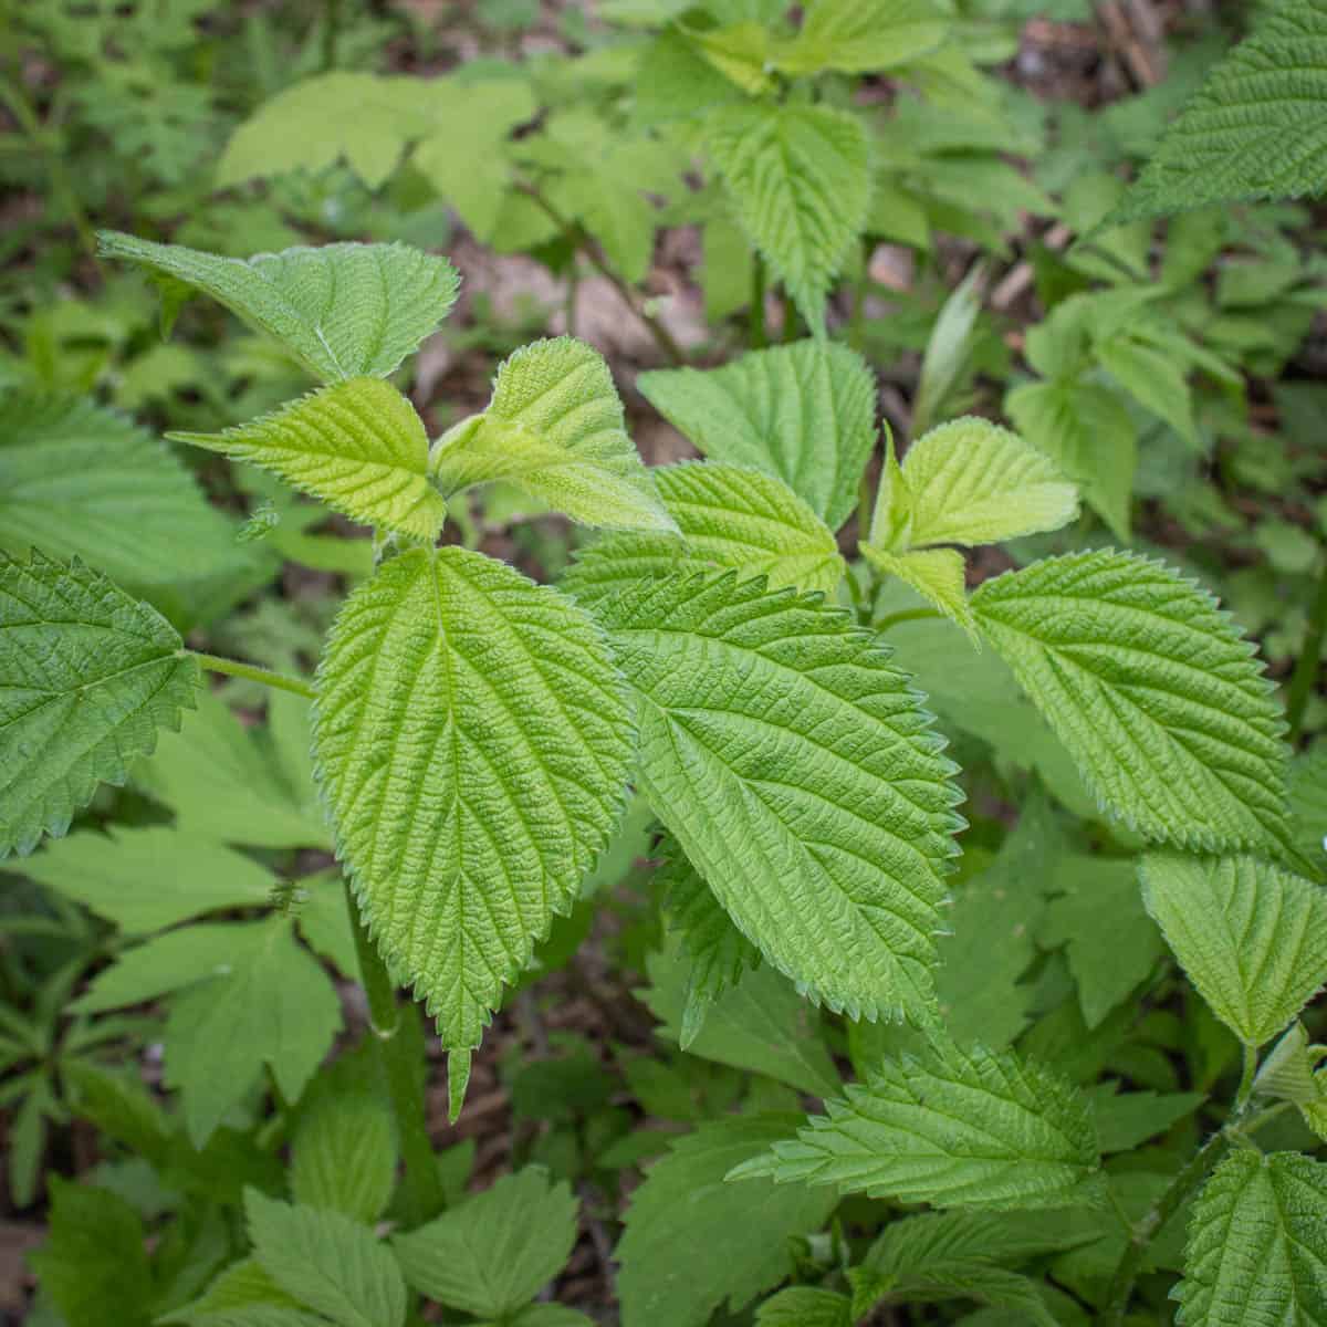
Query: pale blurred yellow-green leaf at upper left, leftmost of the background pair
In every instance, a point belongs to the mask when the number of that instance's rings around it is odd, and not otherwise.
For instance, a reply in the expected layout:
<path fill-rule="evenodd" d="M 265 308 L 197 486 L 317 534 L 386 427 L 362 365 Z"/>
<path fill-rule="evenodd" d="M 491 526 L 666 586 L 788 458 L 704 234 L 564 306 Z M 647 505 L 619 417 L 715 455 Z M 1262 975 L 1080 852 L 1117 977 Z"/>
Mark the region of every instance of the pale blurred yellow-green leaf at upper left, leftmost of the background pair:
<path fill-rule="evenodd" d="M 429 129 L 415 78 L 333 70 L 283 88 L 231 134 L 216 187 L 317 171 L 345 158 L 369 188 L 381 188 L 411 138 Z"/>

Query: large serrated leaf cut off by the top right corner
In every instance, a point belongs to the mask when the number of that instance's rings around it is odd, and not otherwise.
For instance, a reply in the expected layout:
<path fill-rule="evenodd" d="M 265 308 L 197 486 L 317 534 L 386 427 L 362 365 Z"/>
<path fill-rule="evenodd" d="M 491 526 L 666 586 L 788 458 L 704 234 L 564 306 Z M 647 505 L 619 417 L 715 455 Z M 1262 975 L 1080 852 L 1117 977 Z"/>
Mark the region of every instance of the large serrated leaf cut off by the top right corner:
<path fill-rule="evenodd" d="M 1327 8 L 1282 0 L 1213 68 L 1109 224 L 1327 187 Z"/>

